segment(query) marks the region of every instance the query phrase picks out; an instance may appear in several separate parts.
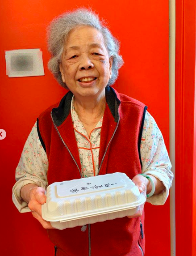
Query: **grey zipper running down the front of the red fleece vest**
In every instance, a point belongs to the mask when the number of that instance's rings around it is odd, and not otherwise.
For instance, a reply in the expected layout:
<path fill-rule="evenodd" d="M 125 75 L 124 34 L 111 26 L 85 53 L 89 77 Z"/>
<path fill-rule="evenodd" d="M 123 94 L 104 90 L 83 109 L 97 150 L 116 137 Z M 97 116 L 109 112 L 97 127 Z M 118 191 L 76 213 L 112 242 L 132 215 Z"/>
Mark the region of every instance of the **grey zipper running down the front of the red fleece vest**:
<path fill-rule="evenodd" d="M 113 132 L 113 136 L 112 136 L 111 139 L 109 140 L 108 145 L 107 145 L 107 147 L 106 147 L 106 149 L 105 149 L 103 158 L 102 158 L 102 160 L 101 160 L 101 163 L 100 163 L 100 166 L 99 166 L 99 169 L 98 169 L 98 172 L 97 172 L 97 175 L 99 175 L 101 166 L 102 166 L 102 164 L 103 164 L 103 162 L 104 162 L 105 155 L 106 155 L 106 153 L 107 153 L 107 151 L 108 151 L 108 147 L 109 147 L 109 145 L 110 145 L 110 143 L 111 143 L 111 141 L 112 141 L 112 139 L 113 139 L 113 137 L 114 137 L 114 134 L 115 134 L 116 131 L 117 131 L 117 128 L 118 128 L 118 125 L 119 125 L 119 122 L 120 122 L 119 107 L 120 107 L 120 105 L 118 106 L 118 122 L 117 122 L 117 126 L 116 126 L 116 128 L 115 128 L 115 130 L 114 130 L 114 132 Z M 57 131 L 57 133 L 58 133 L 58 136 L 60 137 L 61 141 L 63 142 L 63 145 L 64 145 L 64 146 L 66 147 L 66 149 L 68 150 L 69 154 L 71 155 L 71 158 L 74 160 L 74 162 L 75 162 L 75 164 L 76 164 L 76 166 L 77 166 L 77 168 L 78 168 L 78 170 L 79 170 L 79 166 L 78 166 L 77 162 L 75 161 L 75 158 L 73 157 L 73 155 L 71 154 L 71 151 L 69 150 L 69 148 L 67 147 L 67 145 L 66 145 L 65 142 L 63 141 L 63 138 L 61 137 L 60 132 L 58 131 L 58 128 L 57 128 L 56 124 L 54 123 L 54 119 L 53 119 L 53 116 L 52 116 L 52 111 L 50 112 L 50 116 L 51 116 L 51 119 L 52 119 L 54 128 L 56 129 L 56 131 Z M 82 174 L 81 174 L 81 171 L 80 171 L 80 170 L 79 170 L 79 174 L 80 174 L 80 177 L 82 178 Z M 139 245 L 139 244 L 138 244 L 138 245 Z M 139 247 L 140 247 L 140 246 L 139 246 Z M 140 249 L 142 250 L 141 247 L 140 247 Z M 88 224 L 88 256 L 91 256 L 91 224 Z M 143 255 L 143 251 L 142 251 L 142 256 L 144 256 L 144 255 Z"/>

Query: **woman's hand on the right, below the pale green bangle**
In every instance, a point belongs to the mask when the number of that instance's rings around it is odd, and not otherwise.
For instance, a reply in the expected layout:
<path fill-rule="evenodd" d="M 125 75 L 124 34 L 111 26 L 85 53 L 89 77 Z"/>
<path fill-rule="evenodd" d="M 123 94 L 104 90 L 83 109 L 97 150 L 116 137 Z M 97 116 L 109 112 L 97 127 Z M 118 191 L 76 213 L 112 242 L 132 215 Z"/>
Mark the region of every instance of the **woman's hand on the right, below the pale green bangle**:
<path fill-rule="evenodd" d="M 147 187 L 148 187 L 150 181 L 142 175 L 136 175 L 135 177 L 133 177 L 132 181 L 139 188 L 139 192 L 142 193 L 146 197 Z M 127 217 L 128 218 L 136 218 L 136 217 L 142 216 L 144 204 L 139 206 L 139 210 L 137 211 L 137 213 L 135 213 L 132 216 L 127 216 Z"/>

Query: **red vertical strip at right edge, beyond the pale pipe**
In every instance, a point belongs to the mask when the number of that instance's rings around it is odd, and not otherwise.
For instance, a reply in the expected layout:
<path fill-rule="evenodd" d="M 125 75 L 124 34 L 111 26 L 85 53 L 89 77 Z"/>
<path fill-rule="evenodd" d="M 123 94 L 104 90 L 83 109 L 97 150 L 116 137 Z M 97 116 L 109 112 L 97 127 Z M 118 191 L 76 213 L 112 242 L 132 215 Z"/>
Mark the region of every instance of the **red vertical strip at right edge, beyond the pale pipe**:
<path fill-rule="evenodd" d="M 176 0 L 176 255 L 196 256 L 196 1 Z"/>

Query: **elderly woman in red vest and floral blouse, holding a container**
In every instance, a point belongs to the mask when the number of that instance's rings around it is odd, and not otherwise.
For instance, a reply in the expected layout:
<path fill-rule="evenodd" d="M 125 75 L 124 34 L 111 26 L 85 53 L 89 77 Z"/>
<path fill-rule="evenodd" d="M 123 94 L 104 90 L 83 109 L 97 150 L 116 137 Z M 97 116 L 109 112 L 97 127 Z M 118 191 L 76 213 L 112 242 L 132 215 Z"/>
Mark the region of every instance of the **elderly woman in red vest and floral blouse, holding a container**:
<path fill-rule="evenodd" d="M 110 86 L 123 60 L 99 17 L 83 8 L 64 13 L 51 22 L 48 45 L 49 69 L 69 92 L 33 126 L 17 166 L 13 202 L 48 230 L 58 256 L 144 255 L 143 205 L 134 216 L 82 229 L 57 230 L 42 219 L 46 187 L 54 182 L 124 172 L 148 202 L 163 205 L 173 177 L 146 106 Z"/>

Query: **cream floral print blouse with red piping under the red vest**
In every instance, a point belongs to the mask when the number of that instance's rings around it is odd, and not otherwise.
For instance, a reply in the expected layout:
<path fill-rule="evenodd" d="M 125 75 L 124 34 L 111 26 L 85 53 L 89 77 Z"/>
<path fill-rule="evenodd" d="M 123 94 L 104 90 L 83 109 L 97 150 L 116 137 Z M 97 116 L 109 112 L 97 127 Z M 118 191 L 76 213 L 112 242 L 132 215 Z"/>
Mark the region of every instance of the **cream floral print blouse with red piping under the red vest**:
<path fill-rule="evenodd" d="M 88 133 L 74 109 L 73 96 L 71 101 L 71 118 L 79 150 L 82 176 L 94 176 L 98 172 L 100 132 L 103 116 L 88 137 Z M 162 133 L 154 118 L 147 111 L 144 120 L 140 153 L 142 158 L 142 173 L 153 175 L 161 180 L 165 186 L 163 193 L 153 195 L 146 201 L 153 205 L 163 205 L 169 195 L 173 173 L 171 172 L 171 162 Z M 21 198 L 21 188 L 28 183 L 34 183 L 46 189 L 48 186 L 47 169 L 48 159 L 38 137 L 36 122 L 25 142 L 21 159 L 16 168 L 17 182 L 13 186 L 13 203 L 19 212 L 25 213 L 30 211 L 28 204 Z"/>

